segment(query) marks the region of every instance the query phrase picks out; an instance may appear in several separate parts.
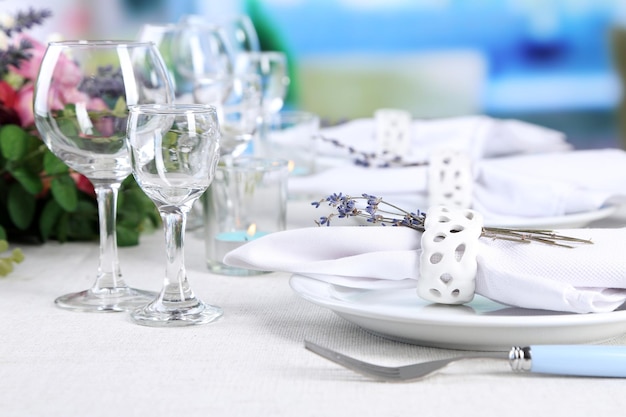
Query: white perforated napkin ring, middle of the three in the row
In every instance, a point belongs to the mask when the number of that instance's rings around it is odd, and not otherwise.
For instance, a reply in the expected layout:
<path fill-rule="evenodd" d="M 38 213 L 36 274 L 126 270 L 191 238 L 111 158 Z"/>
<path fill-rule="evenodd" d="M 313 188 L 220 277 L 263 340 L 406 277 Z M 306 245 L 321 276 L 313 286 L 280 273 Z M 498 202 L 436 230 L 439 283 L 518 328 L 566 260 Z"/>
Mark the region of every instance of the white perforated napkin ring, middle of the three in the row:
<path fill-rule="evenodd" d="M 428 205 L 470 208 L 472 162 L 464 152 L 440 149 L 428 161 Z"/>

